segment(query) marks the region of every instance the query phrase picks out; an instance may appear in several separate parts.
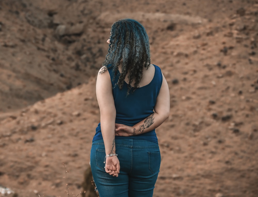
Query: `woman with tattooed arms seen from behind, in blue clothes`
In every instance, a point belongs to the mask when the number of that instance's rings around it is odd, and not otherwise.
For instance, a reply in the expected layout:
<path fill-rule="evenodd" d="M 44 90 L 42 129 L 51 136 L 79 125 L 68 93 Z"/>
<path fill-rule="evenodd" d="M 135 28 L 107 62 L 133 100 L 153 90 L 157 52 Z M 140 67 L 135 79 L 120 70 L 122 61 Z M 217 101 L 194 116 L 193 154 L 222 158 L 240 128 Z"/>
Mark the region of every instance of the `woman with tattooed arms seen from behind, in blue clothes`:
<path fill-rule="evenodd" d="M 167 82 L 150 64 L 149 39 L 132 19 L 111 27 L 108 54 L 96 81 L 100 123 L 91 149 L 100 197 L 152 196 L 160 167 L 155 128 L 169 115 Z"/>

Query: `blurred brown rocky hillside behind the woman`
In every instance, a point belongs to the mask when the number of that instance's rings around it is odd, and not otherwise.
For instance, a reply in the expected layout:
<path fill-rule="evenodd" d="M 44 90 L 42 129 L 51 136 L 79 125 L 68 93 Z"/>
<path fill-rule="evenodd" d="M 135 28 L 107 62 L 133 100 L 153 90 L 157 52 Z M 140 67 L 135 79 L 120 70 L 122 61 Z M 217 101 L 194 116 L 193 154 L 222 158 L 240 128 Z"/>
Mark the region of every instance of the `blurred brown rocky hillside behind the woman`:
<path fill-rule="evenodd" d="M 0 0 L 0 195 L 92 187 L 96 75 L 122 18 L 146 28 L 170 88 L 154 196 L 257 197 L 254 0 Z"/>

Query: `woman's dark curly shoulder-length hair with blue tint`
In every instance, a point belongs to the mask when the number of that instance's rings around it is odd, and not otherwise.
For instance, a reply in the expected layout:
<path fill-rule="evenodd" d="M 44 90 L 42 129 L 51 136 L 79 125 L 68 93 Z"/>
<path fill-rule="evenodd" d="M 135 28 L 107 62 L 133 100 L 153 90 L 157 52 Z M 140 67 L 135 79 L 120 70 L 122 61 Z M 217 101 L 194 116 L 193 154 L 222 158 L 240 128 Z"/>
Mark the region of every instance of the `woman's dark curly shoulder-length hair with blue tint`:
<path fill-rule="evenodd" d="M 125 75 L 128 74 L 127 95 L 139 87 L 142 78 L 143 67 L 150 66 L 150 45 L 149 37 L 144 27 L 136 20 L 122 19 L 114 22 L 111 27 L 110 44 L 108 54 L 103 65 L 112 65 L 112 69 L 117 75 L 118 66 L 122 61 L 122 72 L 116 85 L 122 89 Z M 102 72 L 106 71 L 106 67 Z M 114 77 L 115 78 L 115 77 Z M 112 80 L 114 80 L 114 78 Z M 135 83 L 132 87 L 132 81 Z"/>

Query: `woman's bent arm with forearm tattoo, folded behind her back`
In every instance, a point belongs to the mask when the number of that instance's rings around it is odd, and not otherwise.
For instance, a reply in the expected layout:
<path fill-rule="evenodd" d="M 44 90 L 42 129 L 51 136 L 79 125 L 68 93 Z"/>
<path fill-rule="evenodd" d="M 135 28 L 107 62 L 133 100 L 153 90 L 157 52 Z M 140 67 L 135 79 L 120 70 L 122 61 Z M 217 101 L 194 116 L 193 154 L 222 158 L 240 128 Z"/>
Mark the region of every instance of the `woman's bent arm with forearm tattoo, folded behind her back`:
<path fill-rule="evenodd" d="M 117 136 L 132 136 L 147 133 L 157 128 L 168 118 L 170 110 L 170 95 L 167 81 L 163 74 L 162 77 L 162 85 L 154 107 L 155 112 L 134 126 L 115 124 L 115 133 Z"/>

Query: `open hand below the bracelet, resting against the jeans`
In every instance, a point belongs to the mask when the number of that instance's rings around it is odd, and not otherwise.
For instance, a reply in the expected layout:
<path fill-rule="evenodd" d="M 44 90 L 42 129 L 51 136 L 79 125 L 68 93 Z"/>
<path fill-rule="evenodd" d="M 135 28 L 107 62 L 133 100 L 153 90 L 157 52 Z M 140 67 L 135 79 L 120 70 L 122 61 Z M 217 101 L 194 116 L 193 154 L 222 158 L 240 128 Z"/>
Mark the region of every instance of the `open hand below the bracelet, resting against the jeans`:
<path fill-rule="evenodd" d="M 113 177 L 118 177 L 120 171 L 120 162 L 117 156 L 111 156 L 106 158 L 105 171 Z"/>

